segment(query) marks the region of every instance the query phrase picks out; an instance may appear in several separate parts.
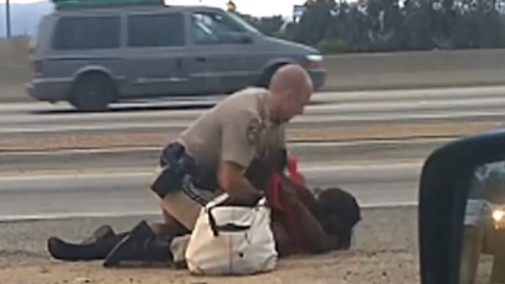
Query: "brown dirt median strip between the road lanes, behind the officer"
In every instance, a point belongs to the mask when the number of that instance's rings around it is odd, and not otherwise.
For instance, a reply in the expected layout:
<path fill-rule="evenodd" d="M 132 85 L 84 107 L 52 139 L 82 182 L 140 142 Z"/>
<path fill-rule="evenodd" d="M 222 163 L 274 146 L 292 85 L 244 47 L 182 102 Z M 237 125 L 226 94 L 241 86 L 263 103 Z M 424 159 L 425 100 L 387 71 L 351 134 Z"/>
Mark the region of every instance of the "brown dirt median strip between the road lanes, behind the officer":
<path fill-rule="evenodd" d="M 386 164 L 421 161 L 448 139 L 408 139 L 350 142 L 288 143 L 301 165 Z M 33 171 L 93 172 L 156 167 L 163 147 L 0 152 L 0 176 Z"/>

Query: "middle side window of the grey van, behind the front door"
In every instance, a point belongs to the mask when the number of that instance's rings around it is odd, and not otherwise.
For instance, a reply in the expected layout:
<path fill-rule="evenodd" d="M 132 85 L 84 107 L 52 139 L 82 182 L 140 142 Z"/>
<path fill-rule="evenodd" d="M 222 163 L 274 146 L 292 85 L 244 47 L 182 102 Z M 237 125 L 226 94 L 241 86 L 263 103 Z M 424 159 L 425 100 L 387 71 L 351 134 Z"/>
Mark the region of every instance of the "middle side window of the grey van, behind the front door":
<path fill-rule="evenodd" d="M 130 47 L 180 47 L 184 43 L 183 14 L 128 16 Z"/>

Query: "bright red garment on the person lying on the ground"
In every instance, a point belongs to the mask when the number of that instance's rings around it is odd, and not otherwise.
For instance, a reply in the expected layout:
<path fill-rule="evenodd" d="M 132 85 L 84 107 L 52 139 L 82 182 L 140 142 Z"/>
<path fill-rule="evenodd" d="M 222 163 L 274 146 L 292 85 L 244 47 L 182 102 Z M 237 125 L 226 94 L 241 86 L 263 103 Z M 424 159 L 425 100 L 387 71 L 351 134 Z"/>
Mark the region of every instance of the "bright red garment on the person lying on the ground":
<path fill-rule="evenodd" d="M 297 163 L 298 161 L 294 156 L 288 156 L 287 170 L 290 174 L 290 180 L 294 185 L 303 185 L 305 183 L 305 177 L 298 172 Z M 293 208 L 290 208 L 290 204 L 281 200 L 281 193 L 279 192 L 281 175 L 282 173 L 279 171 L 272 171 L 270 174 L 267 191 L 268 204 L 270 208 L 272 208 L 272 211 L 282 216 L 281 220 L 283 222 L 283 227 L 290 237 L 290 254 L 303 253 L 305 249 L 302 244 L 298 214 Z"/>

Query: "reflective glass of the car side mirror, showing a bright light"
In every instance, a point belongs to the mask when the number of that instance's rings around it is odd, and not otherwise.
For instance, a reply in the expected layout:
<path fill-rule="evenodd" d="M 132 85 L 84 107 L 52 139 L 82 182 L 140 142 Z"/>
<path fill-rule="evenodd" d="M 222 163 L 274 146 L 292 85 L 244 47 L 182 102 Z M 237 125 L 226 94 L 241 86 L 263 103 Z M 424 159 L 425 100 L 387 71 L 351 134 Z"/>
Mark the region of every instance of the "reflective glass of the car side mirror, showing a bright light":
<path fill-rule="evenodd" d="M 505 160 L 475 169 L 463 220 L 460 283 L 505 283 Z"/>

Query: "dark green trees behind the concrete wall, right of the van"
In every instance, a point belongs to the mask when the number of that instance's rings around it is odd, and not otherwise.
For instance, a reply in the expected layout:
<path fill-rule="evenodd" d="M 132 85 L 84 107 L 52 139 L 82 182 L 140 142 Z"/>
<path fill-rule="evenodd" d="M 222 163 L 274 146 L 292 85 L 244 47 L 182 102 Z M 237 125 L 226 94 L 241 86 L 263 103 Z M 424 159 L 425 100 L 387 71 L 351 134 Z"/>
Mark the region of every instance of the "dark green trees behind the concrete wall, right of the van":
<path fill-rule="evenodd" d="M 505 47 L 505 0 L 307 0 L 305 7 L 297 23 L 242 17 L 270 36 L 331 52 Z"/>

